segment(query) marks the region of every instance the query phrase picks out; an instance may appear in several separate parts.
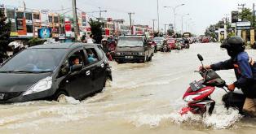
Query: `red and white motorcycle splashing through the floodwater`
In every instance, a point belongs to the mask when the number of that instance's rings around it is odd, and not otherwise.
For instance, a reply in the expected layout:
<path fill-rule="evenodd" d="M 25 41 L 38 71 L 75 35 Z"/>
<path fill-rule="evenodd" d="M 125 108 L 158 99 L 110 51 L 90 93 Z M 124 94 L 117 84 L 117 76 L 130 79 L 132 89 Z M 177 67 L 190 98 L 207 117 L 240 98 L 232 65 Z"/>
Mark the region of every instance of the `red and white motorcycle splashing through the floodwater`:
<path fill-rule="evenodd" d="M 202 67 L 204 67 L 201 54 L 197 54 L 197 57 L 201 61 Z M 210 106 L 208 109 L 208 113 L 209 115 L 211 115 L 214 110 L 215 102 L 213 99 L 211 99 L 210 95 L 214 93 L 215 87 L 221 88 L 227 93 L 227 84 L 212 69 L 202 68 L 201 71 L 195 72 L 200 73 L 203 79 L 199 81 L 192 81 L 189 88 L 183 95 L 183 100 L 185 102 L 188 102 L 188 106 L 183 107 L 179 114 L 185 115 L 188 114 L 188 112 L 190 111 L 192 112 L 192 114 L 203 115 L 207 111 L 207 106 Z M 232 102 L 234 100 L 234 96 L 236 96 L 236 101 Z M 241 93 L 232 92 L 223 95 L 223 102 L 225 103 L 227 109 L 229 107 L 234 107 L 241 112 L 242 106 L 244 104 L 243 102 L 245 102 L 245 97 L 241 96 L 243 96 Z"/>

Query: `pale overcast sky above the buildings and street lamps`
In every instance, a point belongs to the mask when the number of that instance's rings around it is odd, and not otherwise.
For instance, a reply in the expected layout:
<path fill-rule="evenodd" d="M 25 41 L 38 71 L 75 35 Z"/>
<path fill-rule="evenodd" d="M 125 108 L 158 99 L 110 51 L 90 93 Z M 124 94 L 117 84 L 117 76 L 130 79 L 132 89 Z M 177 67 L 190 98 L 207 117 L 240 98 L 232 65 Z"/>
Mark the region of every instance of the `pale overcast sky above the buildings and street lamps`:
<path fill-rule="evenodd" d="M 59 10 L 62 6 L 72 7 L 71 0 L 0 0 L 0 3 L 22 6 L 23 1 L 27 8 L 33 9 Z M 256 3 L 255 0 L 159 0 L 160 28 L 164 28 L 164 24 L 174 24 L 174 12 L 163 6 L 185 4 L 176 9 L 176 13 L 179 14 L 176 15 L 176 28 L 181 30 L 181 15 L 189 13 L 190 15 L 186 15 L 183 19 L 183 30 L 186 30 L 186 22 L 188 22 L 194 24 L 189 28 L 192 32 L 203 34 L 210 24 L 217 23 L 225 14 L 230 16 L 231 11 L 237 11 L 239 3 L 245 3 L 245 7 L 252 8 L 253 2 Z M 135 12 L 132 16 L 135 24 L 152 26 L 152 19 L 157 19 L 157 0 L 77 0 L 77 8 L 82 11 L 99 11 L 99 7 L 108 11 L 102 13 L 104 17 L 125 19 L 126 24 L 129 23 L 128 12 Z M 99 17 L 99 13 L 90 13 L 90 15 Z"/>

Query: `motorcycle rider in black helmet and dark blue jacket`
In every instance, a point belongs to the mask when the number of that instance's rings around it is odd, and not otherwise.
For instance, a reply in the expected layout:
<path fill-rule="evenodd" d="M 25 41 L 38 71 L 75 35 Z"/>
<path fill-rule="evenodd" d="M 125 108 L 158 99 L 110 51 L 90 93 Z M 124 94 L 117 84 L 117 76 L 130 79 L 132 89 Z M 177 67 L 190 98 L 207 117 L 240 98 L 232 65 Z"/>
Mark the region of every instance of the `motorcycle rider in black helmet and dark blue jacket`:
<path fill-rule="evenodd" d="M 245 52 L 245 42 L 241 37 L 228 37 L 222 42 L 221 48 L 227 50 L 227 54 L 231 57 L 224 62 L 205 66 L 205 69 L 227 70 L 234 69 L 236 74 L 236 82 L 229 84 L 227 89 L 241 89 L 246 99 L 243 106 L 245 115 L 256 116 L 256 84 L 252 66 L 254 61 L 249 58 Z M 202 69 L 202 67 L 200 67 Z"/>

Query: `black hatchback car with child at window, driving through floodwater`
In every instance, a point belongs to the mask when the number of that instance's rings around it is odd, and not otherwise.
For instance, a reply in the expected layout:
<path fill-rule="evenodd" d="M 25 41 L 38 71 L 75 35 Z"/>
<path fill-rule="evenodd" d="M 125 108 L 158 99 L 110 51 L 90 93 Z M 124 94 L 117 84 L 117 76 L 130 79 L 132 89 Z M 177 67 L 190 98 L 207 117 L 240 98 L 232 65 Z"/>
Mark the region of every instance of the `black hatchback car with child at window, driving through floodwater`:
<path fill-rule="evenodd" d="M 100 92 L 112 72 L 100 45 L 37 45 L 21 51 L 0 67 L 0 103 L 77 100 Z"/>

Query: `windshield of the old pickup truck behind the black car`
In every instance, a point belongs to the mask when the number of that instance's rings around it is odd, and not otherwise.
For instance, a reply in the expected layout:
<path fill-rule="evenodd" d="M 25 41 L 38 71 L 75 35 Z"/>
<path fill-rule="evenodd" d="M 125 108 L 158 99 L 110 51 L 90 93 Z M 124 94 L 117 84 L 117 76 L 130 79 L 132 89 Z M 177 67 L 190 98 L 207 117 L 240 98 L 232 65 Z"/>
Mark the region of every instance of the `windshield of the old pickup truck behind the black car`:
<path fill-rule="evenodd" d="M 117 46 L 143 46 L 143 41 L 139 37 L 120 38 Z"/>

